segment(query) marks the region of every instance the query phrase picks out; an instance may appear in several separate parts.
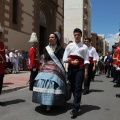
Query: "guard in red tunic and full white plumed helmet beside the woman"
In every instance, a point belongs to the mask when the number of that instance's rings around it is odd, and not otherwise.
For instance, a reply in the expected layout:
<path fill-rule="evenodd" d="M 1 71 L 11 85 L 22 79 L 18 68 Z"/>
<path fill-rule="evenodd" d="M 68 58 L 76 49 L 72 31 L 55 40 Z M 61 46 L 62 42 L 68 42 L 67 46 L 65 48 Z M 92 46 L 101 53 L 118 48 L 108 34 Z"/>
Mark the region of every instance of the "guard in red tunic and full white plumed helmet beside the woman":
<path fill-rule="evenodd" d="M 39 52 L 37 49 L 38 40 L 37 40 L 36 33 L 34 33 L 34 32 L 32 33 L 29 42 L 32 43 L 32 46 L 29 49 L 29 60 L 30 60 L 29 69 L 31 72 L 29 90 L 32 91 L 33 86 L 34 86 L 34 79 L 35 79 L 36 75 L 38 74 L 39 67 L 40 67 Z"/>

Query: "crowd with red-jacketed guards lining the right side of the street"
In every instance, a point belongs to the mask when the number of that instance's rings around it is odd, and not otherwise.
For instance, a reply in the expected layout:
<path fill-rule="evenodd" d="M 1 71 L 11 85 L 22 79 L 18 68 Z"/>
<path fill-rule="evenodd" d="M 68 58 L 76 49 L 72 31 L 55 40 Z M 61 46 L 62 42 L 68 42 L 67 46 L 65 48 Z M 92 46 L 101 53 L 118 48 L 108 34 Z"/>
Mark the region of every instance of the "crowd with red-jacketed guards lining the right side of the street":
<path fill-rule="evenodd" d="M 115 83 L 113 87 L 120 87 L 120 43 L 115 41 L 112 49 L 105 56 L 99 54 L 97 74 L 106 74 L 107 78 L 112 78 Z M 116 94 L 120 98 L 120 94 Z"/>

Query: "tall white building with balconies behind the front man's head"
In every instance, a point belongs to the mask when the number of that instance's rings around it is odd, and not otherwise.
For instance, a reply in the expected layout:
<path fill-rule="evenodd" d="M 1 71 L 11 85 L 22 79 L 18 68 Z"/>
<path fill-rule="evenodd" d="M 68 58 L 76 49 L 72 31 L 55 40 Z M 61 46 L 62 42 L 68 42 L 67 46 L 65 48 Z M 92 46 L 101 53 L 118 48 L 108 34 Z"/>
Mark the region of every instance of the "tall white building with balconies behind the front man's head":
<path fill-rule="evenodd" d="M 83 37 L 91 37 L 90 0 L 64 0 L 64 42 L 74 41 L 73 30 L 80 28 Z"/>

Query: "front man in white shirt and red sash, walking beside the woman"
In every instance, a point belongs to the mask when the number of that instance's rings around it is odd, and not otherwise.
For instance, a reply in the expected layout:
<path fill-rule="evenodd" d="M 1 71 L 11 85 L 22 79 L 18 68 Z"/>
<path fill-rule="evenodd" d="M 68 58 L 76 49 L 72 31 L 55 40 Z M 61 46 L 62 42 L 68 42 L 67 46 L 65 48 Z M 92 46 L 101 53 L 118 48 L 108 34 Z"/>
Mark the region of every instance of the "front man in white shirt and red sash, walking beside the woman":
<path fill-rule="evenodd" d="M 68 80 L 74 96 L 71 114 L 77 117 L 80 109 L 83 80 L 88 76 L 89 53 L 88 48 L 81 42 L 82 31 L 79 28 L 73 31 L 75 42 L 69 43 L 63 55 L 63 62 L 68 65 Z"/>

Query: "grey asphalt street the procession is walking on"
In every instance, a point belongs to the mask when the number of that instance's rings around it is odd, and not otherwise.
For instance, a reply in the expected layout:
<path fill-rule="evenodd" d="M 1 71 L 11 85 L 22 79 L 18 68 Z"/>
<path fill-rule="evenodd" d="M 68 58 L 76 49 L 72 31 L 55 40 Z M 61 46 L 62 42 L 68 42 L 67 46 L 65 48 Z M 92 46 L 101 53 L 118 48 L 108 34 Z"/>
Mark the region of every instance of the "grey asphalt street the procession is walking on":
<path fill-rule="evenodd" d="M 82 96 L 81 111 L 76 120 L 119 120 L 120 98 L 115 94 L 120 93 L 120 88 L 113 88 L 112 78 L 105 75 L 96 76 L 91 83 L 91 92 Z M 32 92 L 27 88 L 4 93 L 0 101 L 5 106 L 0 106 L 0 120 L 70 120 L 72 100 L 61 107 L 53 107 L 50 113 L 44 107 L 32 103 Z"/>

